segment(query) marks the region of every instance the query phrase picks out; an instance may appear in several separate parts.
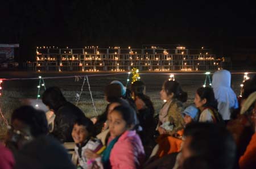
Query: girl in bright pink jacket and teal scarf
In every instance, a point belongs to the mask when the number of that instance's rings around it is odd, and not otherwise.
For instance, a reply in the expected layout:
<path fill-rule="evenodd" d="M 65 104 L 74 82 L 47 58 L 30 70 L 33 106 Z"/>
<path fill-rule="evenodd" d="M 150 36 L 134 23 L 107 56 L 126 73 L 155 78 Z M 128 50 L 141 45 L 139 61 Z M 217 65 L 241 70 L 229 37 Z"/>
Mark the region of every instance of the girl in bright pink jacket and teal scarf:
<path fill-rule="evenodd" d="M 102 154 L 104 168 L 139 168 L 144 160 L 144 149 L 136 130 L 139 129 L 136 112 L 131 107 L 115 107 L 108 115 L 110 137 Z M 86 157 L 98 159 L 99 155 L 86 150 Z M 97 160 L 98 161 L 98 160 Z"/>

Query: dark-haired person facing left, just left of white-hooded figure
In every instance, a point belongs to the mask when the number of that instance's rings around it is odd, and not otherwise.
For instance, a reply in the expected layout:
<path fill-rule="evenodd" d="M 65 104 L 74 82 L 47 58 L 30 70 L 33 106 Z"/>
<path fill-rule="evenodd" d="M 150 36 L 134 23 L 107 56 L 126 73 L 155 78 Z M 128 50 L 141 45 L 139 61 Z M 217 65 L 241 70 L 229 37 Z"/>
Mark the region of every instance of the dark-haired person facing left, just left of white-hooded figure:
<path fill-rule="evenodd" d="M 200 87 L 196 91 L 194 103 L 200 109 L 199 122 L 220 122 L 220 113 L 217 112 L 217 100 L 214 98 L 213 89 Z"/>

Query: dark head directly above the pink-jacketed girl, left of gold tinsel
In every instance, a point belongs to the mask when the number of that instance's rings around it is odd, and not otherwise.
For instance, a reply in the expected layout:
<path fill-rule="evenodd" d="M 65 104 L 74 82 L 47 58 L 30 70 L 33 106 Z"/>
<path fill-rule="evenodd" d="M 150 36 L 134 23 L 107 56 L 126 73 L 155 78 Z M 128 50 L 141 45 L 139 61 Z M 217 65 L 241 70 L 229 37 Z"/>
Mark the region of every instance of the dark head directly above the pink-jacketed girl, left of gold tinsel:
<path fill-rule="evenodd" d="M 108 102 L 115 102 L 115 100 L 121 98 L 122 91 L 121 86 L 119 84 L 108 84 L 105 87 L 105 99 Z"/>

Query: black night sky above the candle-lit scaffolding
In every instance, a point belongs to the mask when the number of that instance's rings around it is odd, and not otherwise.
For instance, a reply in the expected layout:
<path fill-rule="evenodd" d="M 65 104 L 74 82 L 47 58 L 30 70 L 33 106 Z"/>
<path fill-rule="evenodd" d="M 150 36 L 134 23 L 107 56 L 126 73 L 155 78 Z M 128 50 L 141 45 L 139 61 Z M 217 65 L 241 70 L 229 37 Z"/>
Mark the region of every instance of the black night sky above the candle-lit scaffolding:
<path fill-rule="evenodd" d="M 43 45 L 256 48 L 256 1 L 2 0 L 0 17 L 0 43 L 19 43 L 20 61 Z"/>

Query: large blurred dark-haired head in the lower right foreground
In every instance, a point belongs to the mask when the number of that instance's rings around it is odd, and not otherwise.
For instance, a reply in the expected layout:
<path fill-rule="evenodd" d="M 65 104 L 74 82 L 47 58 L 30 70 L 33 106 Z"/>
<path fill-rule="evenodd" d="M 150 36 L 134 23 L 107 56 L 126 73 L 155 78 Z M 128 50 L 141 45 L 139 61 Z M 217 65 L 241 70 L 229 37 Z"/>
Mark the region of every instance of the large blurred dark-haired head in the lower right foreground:
<path fill-rule="evenodd" d="M 236 143 L 224 126 L 207 122 L 189 124 L 179 164 L 191 157 L 204 157 L 212 168 L 233 168 Z"/>

